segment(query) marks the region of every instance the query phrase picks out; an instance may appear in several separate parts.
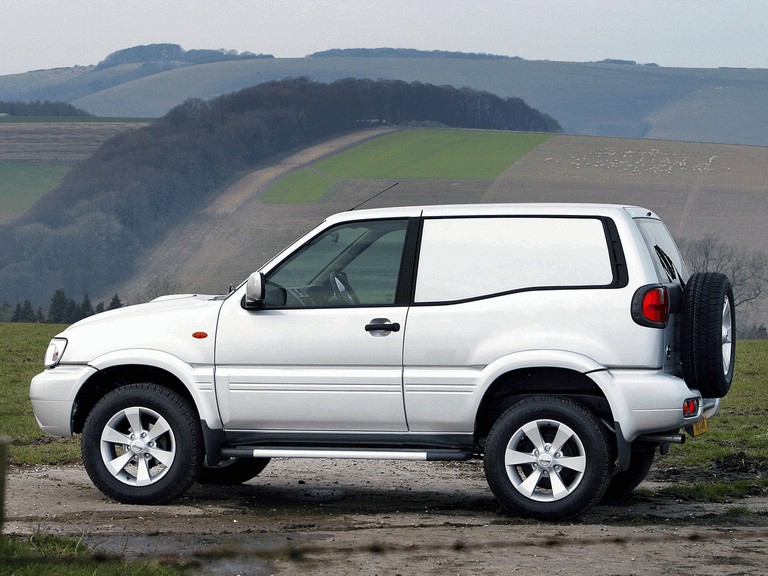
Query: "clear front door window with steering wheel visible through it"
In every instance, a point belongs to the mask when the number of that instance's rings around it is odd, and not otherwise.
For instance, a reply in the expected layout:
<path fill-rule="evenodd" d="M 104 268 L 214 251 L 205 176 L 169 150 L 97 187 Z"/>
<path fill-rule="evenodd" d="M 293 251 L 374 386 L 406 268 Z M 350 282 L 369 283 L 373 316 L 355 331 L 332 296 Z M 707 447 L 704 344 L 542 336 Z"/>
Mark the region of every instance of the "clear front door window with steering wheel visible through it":
<path fill-rule="evenodd" d="M 265 306 L 393 305 L 407 228 L 373 220 L 324 231 L 267 275 Z"/>

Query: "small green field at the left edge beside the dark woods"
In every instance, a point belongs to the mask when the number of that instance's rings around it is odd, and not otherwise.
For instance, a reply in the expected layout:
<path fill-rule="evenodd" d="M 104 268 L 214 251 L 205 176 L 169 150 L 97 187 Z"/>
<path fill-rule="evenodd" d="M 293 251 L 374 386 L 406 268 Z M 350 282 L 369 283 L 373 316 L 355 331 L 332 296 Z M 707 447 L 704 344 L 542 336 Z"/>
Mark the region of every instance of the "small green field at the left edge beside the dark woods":
<path fill-rule="evenodd" d="M 0 160 L 0 222 L 24 214 L 56 188 L 72 162 Z"/>

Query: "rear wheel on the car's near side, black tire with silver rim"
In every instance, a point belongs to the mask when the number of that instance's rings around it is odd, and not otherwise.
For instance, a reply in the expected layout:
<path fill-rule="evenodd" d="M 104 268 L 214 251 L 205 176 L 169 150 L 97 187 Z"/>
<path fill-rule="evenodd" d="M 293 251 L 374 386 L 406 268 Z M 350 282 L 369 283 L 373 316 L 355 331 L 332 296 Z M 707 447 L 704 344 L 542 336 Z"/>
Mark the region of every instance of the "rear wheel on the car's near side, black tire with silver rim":
<path fill-rule="evenodd" d="M 586 408 L 567 398 L 532 396 L 493 425 L 485 475 L 509 511 L 564 520 L 599 502 L 610 479 L 610 454 L 602 425 Z"/>

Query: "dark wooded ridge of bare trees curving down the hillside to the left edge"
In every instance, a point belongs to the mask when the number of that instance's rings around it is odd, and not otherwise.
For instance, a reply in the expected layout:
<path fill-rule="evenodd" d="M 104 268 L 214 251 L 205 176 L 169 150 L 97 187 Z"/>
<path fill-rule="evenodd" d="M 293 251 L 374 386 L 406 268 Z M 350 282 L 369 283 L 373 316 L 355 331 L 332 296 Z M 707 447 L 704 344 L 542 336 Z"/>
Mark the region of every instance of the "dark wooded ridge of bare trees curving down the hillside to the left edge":
<path fill-rule="evenodd" d="M 414 121 L 562 131 L 519 98 L 394 80 L 287 79 L 188 100 L 104 143 L 23 217 L 0 227 L 0 299 L 34 304 L 46 297 L 45 286 L 103 293 L 242 171 L 341 133 Z"/>

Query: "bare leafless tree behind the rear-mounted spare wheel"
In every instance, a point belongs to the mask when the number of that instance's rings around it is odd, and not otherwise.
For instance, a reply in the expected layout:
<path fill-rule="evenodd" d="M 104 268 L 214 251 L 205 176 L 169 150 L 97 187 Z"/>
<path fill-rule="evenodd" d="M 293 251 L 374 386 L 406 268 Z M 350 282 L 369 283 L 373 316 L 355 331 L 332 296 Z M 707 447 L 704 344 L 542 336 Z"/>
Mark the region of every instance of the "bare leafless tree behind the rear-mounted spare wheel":
<path fill-rule="evenodd" d="M 766 292 L 768 255 L 765 252 L 742 250 L 721 242 L 714 235 L 700 240 L 682 239 L 678 244 L 691 272 L 722 272 L 730 278 L 736 307 L 752 307 Z"/>

